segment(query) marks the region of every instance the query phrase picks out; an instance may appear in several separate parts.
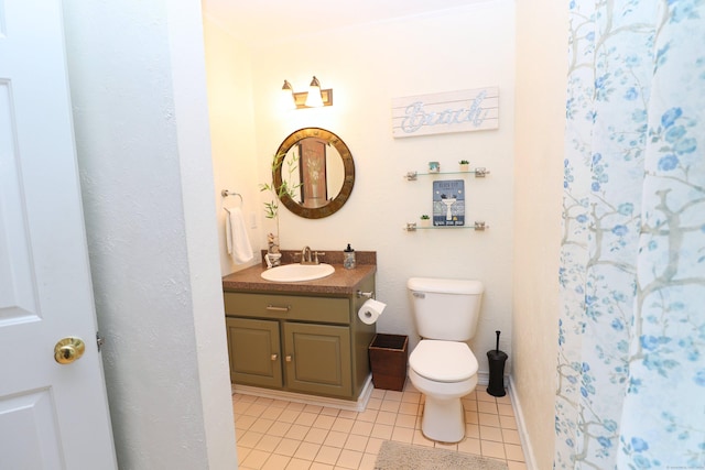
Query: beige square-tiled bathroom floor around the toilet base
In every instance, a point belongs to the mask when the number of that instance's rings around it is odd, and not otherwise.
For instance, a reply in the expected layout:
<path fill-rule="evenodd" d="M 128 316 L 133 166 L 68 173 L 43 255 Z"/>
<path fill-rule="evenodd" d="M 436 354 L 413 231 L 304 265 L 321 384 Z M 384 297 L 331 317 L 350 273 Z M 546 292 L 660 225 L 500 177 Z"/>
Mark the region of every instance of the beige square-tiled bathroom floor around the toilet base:
<path fill-rule="evenodd" d="M 423 395 L 406 382 L 403 392 L 375 390 L 361 413 L 234 394 L 241 470 L 373 469 L 384 440 L 438 447 L 507 462 L 525 470 L 509 395 L 478 389 L 463 398 L 466 436 L 441 444 L 421 433 Z"/>

